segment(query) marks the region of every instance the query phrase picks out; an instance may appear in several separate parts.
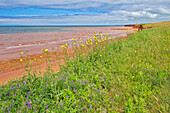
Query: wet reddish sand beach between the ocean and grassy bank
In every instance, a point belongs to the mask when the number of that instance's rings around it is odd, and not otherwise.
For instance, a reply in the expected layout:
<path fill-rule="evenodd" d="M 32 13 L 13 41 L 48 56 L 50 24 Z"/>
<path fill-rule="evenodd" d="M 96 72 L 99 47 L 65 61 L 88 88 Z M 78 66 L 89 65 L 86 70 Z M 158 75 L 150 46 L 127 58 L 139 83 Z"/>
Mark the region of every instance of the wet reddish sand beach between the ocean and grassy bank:
<path fill-rule="evenodd" d="M 28 55 L 42 53 L 42 48 L 57 48 L 61 44 L 71 42 L 71 39 L 92 38 L 94 32 L 108 32 L 111 38 L 126 36 L 126 30 L 134 32 L 132 27 L 69 27 L 70 32 L 37 32 L 0 34 L 0 83 L 5 83 L 25 74 L 24 64 L 19 64 L 20 52 L 28 50 Z M 41 64 L 45 69 L 45 65 Z M 41 69 L 42 69 L 41 68 Z"/>

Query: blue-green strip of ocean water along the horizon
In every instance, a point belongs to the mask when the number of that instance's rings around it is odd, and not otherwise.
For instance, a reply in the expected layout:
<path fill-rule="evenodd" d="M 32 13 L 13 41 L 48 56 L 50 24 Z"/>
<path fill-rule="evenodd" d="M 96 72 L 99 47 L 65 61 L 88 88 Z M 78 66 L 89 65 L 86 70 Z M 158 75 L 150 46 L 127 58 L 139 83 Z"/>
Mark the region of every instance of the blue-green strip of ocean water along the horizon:
<path fill-rule="evenodd" d="M 70 32 L 68 27 L 106 27 L 113 25 L 78 25 L 78 26 L 0 26 L 0 34 L 32 33 L 32 32 Z M 114 25 L 118 26 L 118 25 Z M 119 25 L 120 26 L 120 25 Z"/>

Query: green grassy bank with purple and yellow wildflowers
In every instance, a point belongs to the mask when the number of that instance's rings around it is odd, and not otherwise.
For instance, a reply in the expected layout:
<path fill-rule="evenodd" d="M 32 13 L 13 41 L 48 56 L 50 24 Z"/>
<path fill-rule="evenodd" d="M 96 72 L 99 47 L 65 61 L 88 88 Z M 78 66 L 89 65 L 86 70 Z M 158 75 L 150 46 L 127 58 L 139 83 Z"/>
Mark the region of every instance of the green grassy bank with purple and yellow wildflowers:
<path fill-rule="evenodd" d="M 113 41 L 100 34 L 79 41 L 80 48 L 76 41 L 59 72 L 49 64 L 43 76 L 29 73 L 1 86 L 0 112 L 168 112 L 168 31 L 147 29 Z M 68 55 L 67 45 L 63 51 Z"/>

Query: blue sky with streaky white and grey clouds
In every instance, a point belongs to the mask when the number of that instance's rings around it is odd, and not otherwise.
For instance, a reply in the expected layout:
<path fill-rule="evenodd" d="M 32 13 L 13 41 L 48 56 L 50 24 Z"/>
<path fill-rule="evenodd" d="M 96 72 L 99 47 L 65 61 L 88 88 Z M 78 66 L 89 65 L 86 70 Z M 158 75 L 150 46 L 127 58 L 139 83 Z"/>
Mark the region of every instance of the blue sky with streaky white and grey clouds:
<path fill-rule="evenodd" d="M 170 21 L 170 0 L 0 0 L 3 25 L 124 25 Z"/>

